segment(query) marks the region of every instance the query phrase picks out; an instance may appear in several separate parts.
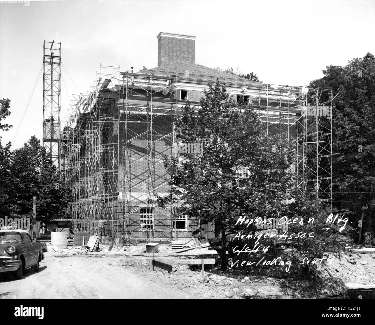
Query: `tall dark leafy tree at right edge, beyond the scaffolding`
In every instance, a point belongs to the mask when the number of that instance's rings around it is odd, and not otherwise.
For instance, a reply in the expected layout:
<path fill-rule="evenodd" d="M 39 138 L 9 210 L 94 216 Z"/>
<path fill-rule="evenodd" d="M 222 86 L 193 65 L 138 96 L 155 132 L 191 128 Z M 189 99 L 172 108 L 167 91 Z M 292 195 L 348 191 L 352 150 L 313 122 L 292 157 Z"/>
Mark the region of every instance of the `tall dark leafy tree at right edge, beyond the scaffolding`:
<path fill-rule="evenodd" d="M 361 242 L 363 227 L 373 229 L 375 212 L 374 55 L 367 53 L 346 67 L 327 67 L 323 73 L 310 86 L 339 92 L 333 107 L 333 149 L 339 153 L 333 159 L 334 207 L 347 213 Z"/>

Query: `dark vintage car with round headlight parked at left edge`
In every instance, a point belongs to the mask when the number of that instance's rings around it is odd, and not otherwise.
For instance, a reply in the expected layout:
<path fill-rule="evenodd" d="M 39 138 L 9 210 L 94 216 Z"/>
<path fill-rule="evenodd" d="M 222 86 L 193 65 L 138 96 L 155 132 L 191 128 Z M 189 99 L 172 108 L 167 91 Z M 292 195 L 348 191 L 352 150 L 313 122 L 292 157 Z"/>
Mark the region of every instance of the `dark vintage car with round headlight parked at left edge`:
<path fill-rule="evenodd" d="M 0 272 L 12 272 L 18 280 L 27 268 L 38 271 L 43 258 L 42 244 L 33 242 L 26 230 L 0 230 Z"/>

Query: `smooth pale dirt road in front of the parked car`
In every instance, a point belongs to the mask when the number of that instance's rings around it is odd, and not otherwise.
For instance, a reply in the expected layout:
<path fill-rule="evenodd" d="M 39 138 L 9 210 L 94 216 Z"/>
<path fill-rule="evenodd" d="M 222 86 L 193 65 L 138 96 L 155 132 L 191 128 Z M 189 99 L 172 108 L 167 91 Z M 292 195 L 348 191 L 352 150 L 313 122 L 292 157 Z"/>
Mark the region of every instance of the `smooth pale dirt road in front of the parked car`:
<path fill-rule="evenodd" d="M 117 266 L 116 257 L 53 257 L 45 253 L 39 272 L 26 270 L 21 280 L 0 274 L 1 299 L 56 298 L 186 298 L 185 295 L 131 269 Z"/>

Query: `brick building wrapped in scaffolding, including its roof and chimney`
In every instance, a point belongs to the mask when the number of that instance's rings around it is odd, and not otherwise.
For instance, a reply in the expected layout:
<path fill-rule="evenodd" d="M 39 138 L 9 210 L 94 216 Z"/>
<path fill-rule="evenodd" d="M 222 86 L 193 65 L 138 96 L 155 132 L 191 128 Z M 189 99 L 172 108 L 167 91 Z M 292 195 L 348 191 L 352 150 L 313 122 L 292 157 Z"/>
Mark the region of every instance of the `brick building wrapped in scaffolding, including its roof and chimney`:
<path fill-rule="evenodd" d="M 217 77 L 236 100 L 245 90 L 244 100 L 263 122 L 262 133 L 296 143 L 301 189 L 318 188 L 330 202 L 332 119 L 301 114 L 307 104 L 332 106 L 330 91 L 252 82 L 196 64 L 195 36 L 161 32 L 157 42 L 156 68 L 133 72 L 131 66 L 102 65 L 90 92 L 75 95 L 61 159 L 74 193 L 68 209 L 74 231 L 98 234 L 114 245 L 136 239 L 197 242 L 192 233 L 199 219 L 148 202 L 168 192 L 162 158 L 178 155 L 174 122 L 181 108 L 187 100 L 198 108 Z M 202 227 L 202 236 L 214 236 L 212 225 Z"/>

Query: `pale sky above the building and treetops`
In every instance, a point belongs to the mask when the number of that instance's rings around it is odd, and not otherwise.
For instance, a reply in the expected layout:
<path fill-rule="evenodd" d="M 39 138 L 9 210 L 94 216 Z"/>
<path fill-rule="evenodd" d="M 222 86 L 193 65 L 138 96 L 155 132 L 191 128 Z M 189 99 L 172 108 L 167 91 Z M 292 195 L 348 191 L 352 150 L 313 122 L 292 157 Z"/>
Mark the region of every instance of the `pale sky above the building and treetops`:
<path fill-rule="evenodd" d="M 43 62 L 43 41 L 62 43 L 62 118 L 100 64 L 157 66 L 159 32 L 195 35 L 195 63 L 240 67 L 265 83 L 302 86 L 327 65 L 375 54 L 374 1 L 30 1 L 0 3 L 0 98 L 11 100 L 12 141 Z M 13 142 L 42 137 L 42 75 Z M 76 88 L 77 86 L 77 88 Z M 79 89 L 79 90 L 78 90 Z"/>

